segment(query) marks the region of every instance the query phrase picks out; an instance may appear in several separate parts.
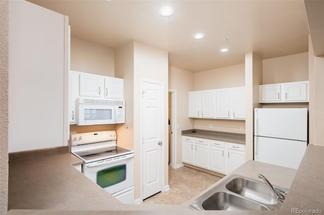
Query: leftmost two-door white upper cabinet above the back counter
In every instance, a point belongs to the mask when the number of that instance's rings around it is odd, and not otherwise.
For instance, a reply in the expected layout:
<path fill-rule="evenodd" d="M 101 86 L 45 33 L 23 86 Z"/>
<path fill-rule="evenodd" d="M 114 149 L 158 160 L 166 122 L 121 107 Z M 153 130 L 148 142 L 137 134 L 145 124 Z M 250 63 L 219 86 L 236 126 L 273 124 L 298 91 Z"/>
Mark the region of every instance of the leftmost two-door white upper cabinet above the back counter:
<path fill-rule="evenodd" d="M 215 90 L 188 92 L 188 117 L 215 118 Z"/>

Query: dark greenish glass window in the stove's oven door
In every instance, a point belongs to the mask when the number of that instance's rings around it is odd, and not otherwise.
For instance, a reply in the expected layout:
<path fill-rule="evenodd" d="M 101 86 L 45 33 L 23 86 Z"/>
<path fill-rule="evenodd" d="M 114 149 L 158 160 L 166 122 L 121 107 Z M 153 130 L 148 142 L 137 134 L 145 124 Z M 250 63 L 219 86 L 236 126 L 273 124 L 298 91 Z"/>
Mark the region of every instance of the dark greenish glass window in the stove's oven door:
<path fill-rule="evenodd" d="M 126 180 L 126 165 L 119 165 L 107 168 L 97 173 L 97 184 L 102 187 L 109 187 Z"/>

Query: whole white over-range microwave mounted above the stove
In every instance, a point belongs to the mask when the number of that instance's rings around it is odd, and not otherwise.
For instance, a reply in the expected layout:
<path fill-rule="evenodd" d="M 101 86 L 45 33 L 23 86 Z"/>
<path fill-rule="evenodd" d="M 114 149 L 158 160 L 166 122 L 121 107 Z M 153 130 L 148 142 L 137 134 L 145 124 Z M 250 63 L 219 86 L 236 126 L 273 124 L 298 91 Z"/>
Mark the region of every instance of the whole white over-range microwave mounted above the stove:
<path fill-rule="evenodd" d="M 125 100 L 77 98 L 77 125 L 125 123 Z"/>

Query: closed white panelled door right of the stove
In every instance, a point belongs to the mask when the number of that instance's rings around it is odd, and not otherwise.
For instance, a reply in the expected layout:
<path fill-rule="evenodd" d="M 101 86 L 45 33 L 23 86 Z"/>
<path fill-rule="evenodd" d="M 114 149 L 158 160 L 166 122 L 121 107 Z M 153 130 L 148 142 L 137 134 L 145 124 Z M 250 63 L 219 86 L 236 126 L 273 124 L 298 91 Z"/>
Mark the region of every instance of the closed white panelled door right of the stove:
<path fill-rule="evenodd" d="M 143 90 L 143 199 L 161 191 L 162 188 L 162 145 L 163 86 L 142 82 Z"/>

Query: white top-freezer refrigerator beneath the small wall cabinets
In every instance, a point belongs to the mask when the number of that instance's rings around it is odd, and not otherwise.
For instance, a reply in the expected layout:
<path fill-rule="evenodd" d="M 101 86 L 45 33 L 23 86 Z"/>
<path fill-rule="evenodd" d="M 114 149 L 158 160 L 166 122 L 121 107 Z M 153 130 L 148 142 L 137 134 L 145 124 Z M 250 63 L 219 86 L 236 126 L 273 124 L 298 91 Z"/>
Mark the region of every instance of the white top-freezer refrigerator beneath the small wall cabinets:
<path fill-rule="evenodd" d="M 306 108 L 254 110 L 254 160 L 298 169 L 306 147 Z"/>

